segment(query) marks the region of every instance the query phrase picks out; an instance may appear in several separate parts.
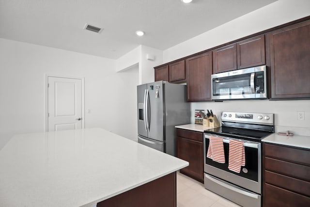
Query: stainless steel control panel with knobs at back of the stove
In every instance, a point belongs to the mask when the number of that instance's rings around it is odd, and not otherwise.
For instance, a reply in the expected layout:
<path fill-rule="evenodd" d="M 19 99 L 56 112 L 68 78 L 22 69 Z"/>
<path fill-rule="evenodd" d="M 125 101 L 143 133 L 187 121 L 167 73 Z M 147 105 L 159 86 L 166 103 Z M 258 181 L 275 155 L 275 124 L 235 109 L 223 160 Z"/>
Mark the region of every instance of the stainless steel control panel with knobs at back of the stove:
<path fill-rule="evenodd" d="M 221 120 L 273 125 L 274 114 L 223 111 L 221 115 Z"/>

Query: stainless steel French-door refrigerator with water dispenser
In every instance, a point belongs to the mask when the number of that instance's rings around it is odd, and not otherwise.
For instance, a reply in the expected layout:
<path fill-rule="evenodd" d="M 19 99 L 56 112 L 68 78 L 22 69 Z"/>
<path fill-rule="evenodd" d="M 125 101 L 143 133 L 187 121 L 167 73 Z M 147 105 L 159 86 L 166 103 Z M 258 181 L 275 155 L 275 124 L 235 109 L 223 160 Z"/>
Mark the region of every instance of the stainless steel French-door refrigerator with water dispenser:
<path fill-rule="evenodd" d="M 176 155 L 175 126 L 190 123 L 186 85 L 156 81 L 137 86 L 138 143 Z"/>

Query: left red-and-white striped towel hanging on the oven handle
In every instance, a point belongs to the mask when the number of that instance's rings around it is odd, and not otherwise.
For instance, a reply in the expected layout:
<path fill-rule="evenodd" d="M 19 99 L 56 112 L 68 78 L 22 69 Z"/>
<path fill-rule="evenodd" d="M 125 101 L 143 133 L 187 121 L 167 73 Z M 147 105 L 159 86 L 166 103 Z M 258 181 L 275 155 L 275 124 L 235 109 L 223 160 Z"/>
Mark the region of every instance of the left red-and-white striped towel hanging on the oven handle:
<path fill-rule="evenodd" d="M 223 139 L 209 136 L 209 141 L 207 158 L 210 158 L 213 161 L 217 161 L 219 163 L 225 163 Z"/>

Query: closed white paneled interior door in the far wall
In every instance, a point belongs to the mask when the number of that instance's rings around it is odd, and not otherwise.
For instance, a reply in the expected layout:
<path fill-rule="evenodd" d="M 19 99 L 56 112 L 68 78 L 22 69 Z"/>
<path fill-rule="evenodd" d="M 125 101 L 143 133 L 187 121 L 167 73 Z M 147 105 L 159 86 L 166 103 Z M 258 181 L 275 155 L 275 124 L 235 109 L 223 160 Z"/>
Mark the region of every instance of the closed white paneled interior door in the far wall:
<path fill-rule="evenodd" d="M 82 128 L 82 80 L 48 77 L 48 131 Z"/>

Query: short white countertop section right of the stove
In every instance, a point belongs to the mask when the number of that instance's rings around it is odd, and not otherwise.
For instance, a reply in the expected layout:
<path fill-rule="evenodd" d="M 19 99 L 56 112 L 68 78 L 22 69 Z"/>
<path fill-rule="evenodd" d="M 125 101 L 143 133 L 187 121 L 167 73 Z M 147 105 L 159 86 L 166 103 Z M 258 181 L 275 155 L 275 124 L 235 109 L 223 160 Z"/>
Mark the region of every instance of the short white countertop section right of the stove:
<path fill-rule="evenodd" d="M 310 149 L 310 137 L 308 136 L 283 136 L 277 133 L 271 134 L 264 138 L 262 142 L 283 144 L 294 147 Z"/>

